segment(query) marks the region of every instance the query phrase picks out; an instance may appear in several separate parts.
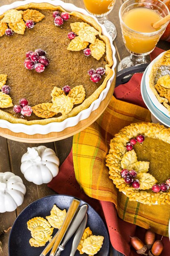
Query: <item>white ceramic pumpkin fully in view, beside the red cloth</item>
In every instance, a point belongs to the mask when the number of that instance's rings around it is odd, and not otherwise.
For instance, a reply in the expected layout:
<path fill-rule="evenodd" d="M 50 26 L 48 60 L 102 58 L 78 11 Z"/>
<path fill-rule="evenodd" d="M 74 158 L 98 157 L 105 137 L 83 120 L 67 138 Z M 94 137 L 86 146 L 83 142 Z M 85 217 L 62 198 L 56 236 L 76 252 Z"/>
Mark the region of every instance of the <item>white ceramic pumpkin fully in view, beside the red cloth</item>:
<path fill-rule="evenodd" d="M 58 174 L 60 164 L 54 150 L 45 146 L 27 150 L 21 158 L 21 171 L 24 177 L 37 185 L 49 183 Z"/>

